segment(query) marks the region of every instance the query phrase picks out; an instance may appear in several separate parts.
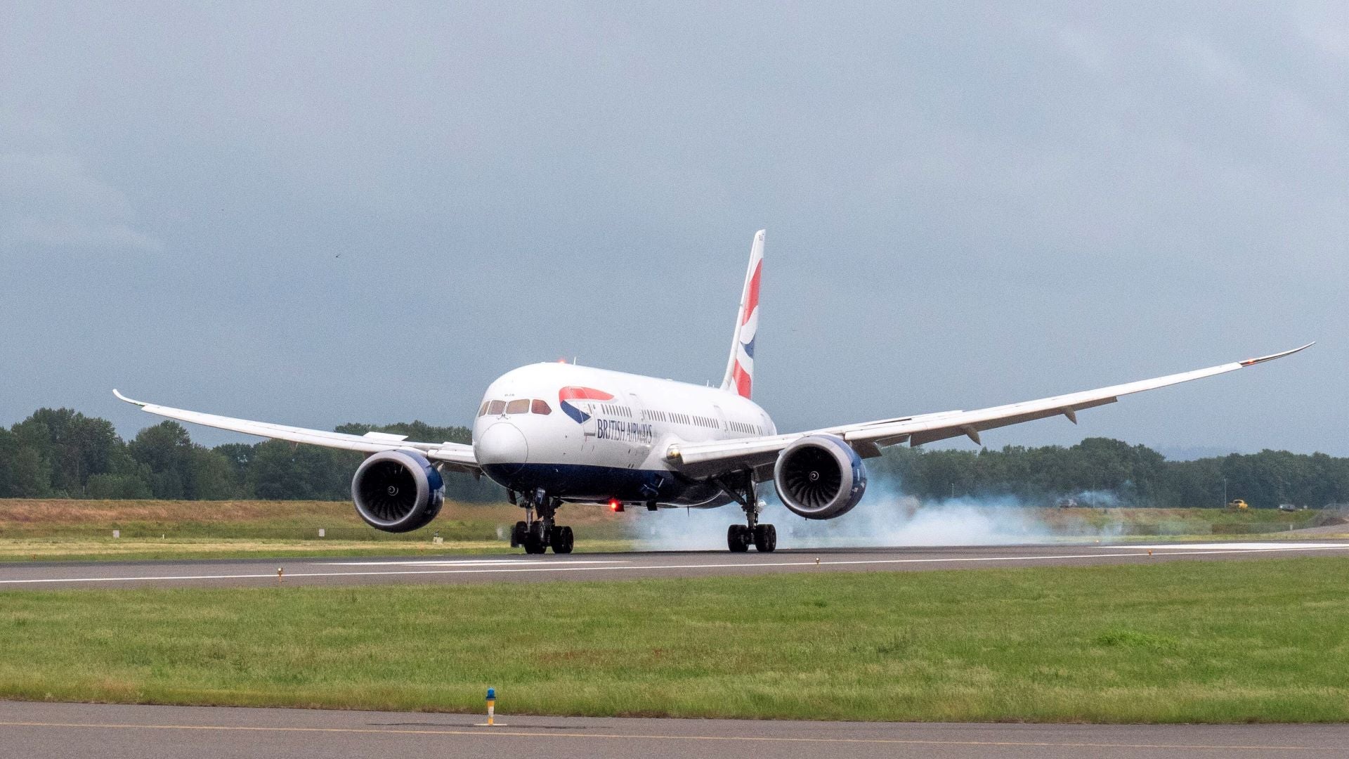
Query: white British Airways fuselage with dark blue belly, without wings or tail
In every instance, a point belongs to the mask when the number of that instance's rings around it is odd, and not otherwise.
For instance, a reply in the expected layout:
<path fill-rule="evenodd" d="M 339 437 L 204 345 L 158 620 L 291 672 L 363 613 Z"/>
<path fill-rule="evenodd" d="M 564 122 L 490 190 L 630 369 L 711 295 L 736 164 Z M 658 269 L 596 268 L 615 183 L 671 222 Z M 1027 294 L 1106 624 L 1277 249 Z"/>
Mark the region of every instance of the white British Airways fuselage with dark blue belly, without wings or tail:
<path fill-rule="evenodd" d="M 568 501 L 715 506 L 716 485 L 672 469 L 674 443 L 774 435 L 734 392 L 569 363 L 507 371 L 483 396 L 473 454 L 510 490 Z"/>

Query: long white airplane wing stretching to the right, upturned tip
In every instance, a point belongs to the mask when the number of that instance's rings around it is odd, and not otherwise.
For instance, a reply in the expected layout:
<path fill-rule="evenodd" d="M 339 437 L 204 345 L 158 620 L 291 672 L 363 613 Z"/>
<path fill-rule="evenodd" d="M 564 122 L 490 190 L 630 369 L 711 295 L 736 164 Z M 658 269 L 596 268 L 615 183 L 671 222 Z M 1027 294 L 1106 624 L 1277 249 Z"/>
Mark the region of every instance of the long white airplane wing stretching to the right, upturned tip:
<path fill-rule="evenodd" d="M 881 454 L 881 446 L 893 446 L 908 442 L 911 446 L 921 446 L 934 440 L 956 438 L 965 435 L 979 443 L 979 432 L 1009 424 L 1020 424 L 1035 419 L 1050 416 L 1066 416 L 1077 424 L 1077 412 L 1098 405 L 1113 404 L 1120 396 L 1155 390 L 1167 385 L 1178 385 L 1191 380 L 1226 374 L 1264 363 L 1276 358 L 1295 354 L 1314 343 L 1292 348 L 1291 351 L 1263 355 L 1246 361 L 1236 361 L 1209 369 L 1182 371 L 1152 380 L 1112 385 L 1095 390 L 1068 393 L 1035 401 L 1023 401 L 1001 407 L 982 408 L 975 411 L 946 411 L 939 413 L 925 413 L 920 416 L 904 416 L 896 419 L 882 419 L 878 421 L 865 421 L 861 424 L 846 424 L 842 427 L 828 427 L 808 432 L 795 432 L 789 435 L 773 435 L 766 438 L 737 438 L 731 440 L 718 440 L 714 443 L 679 443 L 670 446 L 666 458 L 670 463 L 681 467 L 691 475 L 715 474 L 733 469 L 750 469 L 755 471 L 755 479 L 764 481 L 772 477 L 770 467 L 777 459 L 777 452 L 793 440 L 805 435 L 836 435 L 847 440 L 853 448 L 866 456 Z"/>

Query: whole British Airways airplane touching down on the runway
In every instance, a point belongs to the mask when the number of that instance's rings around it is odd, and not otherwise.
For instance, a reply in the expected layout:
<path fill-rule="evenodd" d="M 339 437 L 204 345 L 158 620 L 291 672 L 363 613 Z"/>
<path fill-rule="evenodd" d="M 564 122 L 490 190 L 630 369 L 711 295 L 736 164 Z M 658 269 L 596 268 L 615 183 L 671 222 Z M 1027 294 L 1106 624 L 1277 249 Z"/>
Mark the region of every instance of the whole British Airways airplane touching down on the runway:
<path fill-rule="evenodd" d="M 866 492 L 863 459 L 900 443 L 921 446 L 1052 416 L 1077 424 L 1083 409 L 1120 396 L 1236 371 L 1306 346 L 1139 382 L 975 411 L 944 411 L 778 432 L 751 400 L 759 324 L 764 230 L 754 234 L 726 374 L 719 386 L 610 371 L 575 363 L 536 363 L 498 377 L 473 419 L 472 444 L 407 440 L 402 435 L 348 435 L 287 427 L 117 398 L 143 411 L 247 435 L 362 451 L 351 482 L 356 513 L 386 532 L 429 524 L 444 504 L 444 473 L 488 477 L 506 489 L 525 519 L 511 547 L 526 554 L 569 554 L 572 528 L 557 524 L 563 504 L 716 508 L 737 504 L 745 521 L 726 533 L 734 552 L 770 552 L 777 529 L 759 523 L 758 488 L 772 481 L 782 505 L 805 519 L 835 519 Z"/>

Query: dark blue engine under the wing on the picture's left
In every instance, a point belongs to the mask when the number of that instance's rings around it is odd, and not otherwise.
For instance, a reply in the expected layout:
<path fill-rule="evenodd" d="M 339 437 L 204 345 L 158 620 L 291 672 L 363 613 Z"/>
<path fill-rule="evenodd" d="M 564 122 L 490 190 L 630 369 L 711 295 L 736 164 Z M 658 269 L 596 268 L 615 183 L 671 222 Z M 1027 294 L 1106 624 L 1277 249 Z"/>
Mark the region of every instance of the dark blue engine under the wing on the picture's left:
<path fill-rule="evenodd" d="M 440 513 L 445 481 L 417 451 L 380 451 L 351 478 L 351 500 L 360 519 L 375 529 L 410 532 Z"/>

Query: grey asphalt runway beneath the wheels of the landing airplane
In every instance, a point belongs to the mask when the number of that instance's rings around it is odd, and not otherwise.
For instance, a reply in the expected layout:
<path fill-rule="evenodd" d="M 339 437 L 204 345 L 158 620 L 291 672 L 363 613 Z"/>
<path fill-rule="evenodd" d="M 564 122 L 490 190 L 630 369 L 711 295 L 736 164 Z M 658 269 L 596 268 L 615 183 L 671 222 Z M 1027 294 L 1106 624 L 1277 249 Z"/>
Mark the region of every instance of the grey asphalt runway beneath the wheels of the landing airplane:
<path fill-rule="evenodd" d="M 921 571 L 1349 555 L 1349 542 L 816 548 L 774 554 L 629 552 L 0 565 L 0 592 L 69 587 L 563 582 L 820 571 Z M 281 570 L 278 575 L 278 570 Z"/>

